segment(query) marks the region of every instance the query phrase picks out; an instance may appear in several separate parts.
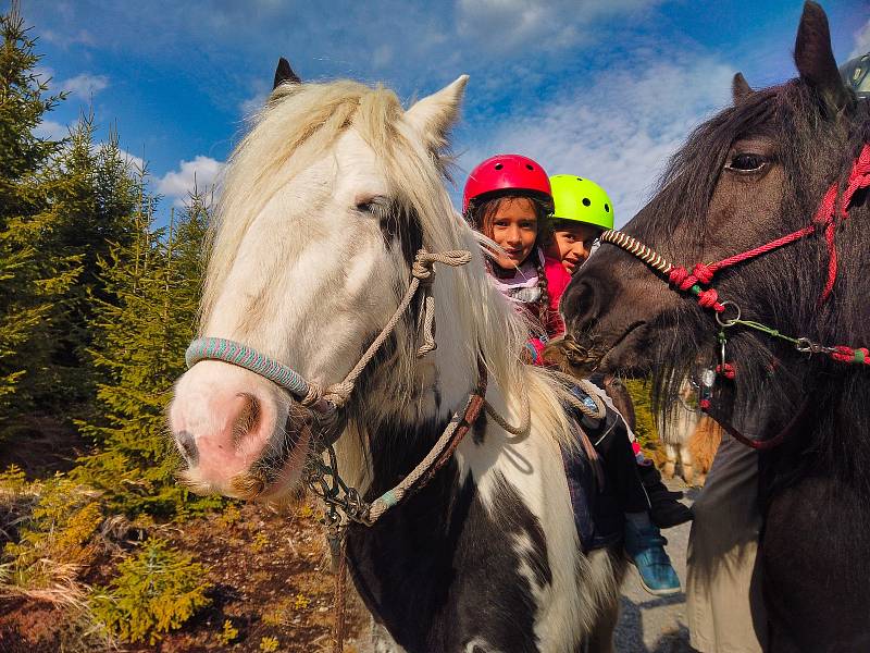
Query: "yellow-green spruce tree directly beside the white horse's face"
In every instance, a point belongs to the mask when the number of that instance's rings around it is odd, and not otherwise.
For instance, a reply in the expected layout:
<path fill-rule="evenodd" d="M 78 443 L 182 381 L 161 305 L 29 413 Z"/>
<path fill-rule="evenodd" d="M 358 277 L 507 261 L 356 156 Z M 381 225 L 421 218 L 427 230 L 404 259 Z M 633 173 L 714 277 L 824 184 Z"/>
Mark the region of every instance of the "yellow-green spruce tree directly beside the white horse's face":
<path fill-rule="evenodd" d="M 98 386 L 101 418 L 82 423 L 97 452 L 80 460 L 78 477 L 104 491 L 113 509 L 171 515 L 216 505 L 190 501 L 175 482 L 181 460 L 165 427 L 172 383 L 184 371 L 194 336 L 202 275 L 208 209 L 202 196 L 167 229 L 153 226 L 153 198 L 145 192 L 138 230 L 101 263 L 107 291 L 97 303 L 101 335 L 92 349 L 108 380 Z"/>

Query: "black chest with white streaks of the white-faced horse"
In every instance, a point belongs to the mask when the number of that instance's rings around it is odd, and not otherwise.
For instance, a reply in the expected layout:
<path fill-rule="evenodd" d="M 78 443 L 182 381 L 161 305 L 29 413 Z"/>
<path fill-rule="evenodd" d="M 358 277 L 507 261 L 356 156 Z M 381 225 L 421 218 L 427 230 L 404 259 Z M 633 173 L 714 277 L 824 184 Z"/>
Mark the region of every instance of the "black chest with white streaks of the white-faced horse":
<path fill-rule="evenodd" d="M 409 653 L 538 651 L 538 603 L 552 582 L 538 519 L 504 479 L 486 505 L 471 479 L 453 488 L 447 501 L 427 489 L 352 533 L 363 600 Z"/>

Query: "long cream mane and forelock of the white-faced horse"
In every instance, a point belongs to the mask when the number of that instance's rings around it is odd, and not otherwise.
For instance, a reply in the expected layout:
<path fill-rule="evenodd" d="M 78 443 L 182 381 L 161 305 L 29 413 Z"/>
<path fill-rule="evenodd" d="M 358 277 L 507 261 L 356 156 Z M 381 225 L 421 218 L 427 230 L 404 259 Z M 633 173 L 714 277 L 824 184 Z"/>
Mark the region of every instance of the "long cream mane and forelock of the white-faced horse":
<path fill-rule="evenodd" d="M 428 147 L 401 120 L 402 114 L 401 103 L 393 91 L 356 82 L 285 84 L 273 93 L 250 133 L 233 152 L 225 172 L 211 234 L 203 316 L 208 316 L 214 304 L 245 232 L 258 212 L 283 184 L 328 151 L 352 126 L 383 164 L 394 194 L 391 199 L 398 205 L 394 219 L 413 219 L 412 226 L 419 227 L 422 245 L 428 251 L 467 249 L 472 254 L 470 264 L 442 267 L 435 278 L 436 288 L 449 287 L 453 298 L 449 307 L 439 306 L 447 309 L 440 315 L 442 319 L 458 324 L 453 333 L 462 334 L 461 342 L 451 346 L 463 348 L 467 369 L 475 370 L 481 356 L 489 370 L 490 383 L 518 402 L 525 401 L 527 392 L 536 412 L 536 428 L 571 445 L 570 429 L 559 409 L 564 389 L 549 373 L 520 361 L 519 352 L 529 337 L 529 325 L 488 282 L 478 241 L 457 214 L 445 189 L 449 163 L 446 138 L 435 149 Z M 402 283 L 395 288 L 397 297 L 407 289 L 408 280 Z M 393 379 L 410 384 L 411 368 L 415 365 L 413 348 L 403 346 L 387 367 Z M 360 390 L 369 382 L 361 379 Z M 397 404 L 412 395 L 407 385 L 391 390 L 396 390 Z M 377 424 L 370 423 L 368 428 L 376 429 Z"/>

